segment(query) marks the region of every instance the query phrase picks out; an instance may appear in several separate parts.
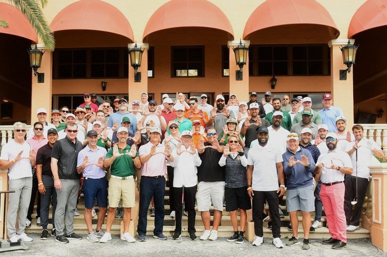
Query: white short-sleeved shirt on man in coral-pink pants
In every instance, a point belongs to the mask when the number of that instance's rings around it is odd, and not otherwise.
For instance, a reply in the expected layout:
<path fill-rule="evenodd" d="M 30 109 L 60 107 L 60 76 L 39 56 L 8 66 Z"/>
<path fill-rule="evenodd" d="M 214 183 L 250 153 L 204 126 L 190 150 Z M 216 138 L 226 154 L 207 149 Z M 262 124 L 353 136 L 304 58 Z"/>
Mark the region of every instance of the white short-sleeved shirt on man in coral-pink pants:
<path fill-rule="evenodd" d="M 352 168 L 351 158 L 348 153 L 335 148 L 333 151 L 322 153 L 318 157 L 316 166 L 320 163 L 324 163 L 325 167 L 321 170 L 321 182 L 322 183 L 334 183 L 344 181 L 344 174 L 335 169 L 329 169 L 332 163 L 339 167 Z"/>

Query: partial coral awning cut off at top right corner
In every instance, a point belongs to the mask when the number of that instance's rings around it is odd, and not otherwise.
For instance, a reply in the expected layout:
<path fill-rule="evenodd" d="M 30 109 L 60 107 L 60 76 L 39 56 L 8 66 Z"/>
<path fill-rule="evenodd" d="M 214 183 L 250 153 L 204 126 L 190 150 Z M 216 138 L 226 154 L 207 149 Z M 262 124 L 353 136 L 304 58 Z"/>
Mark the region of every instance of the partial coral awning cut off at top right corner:
<path fill-rule="evenodd" d="M 387 25 L 387 0 L 368 0 L 355 12 L 348 38 L 367 29 Z"/>

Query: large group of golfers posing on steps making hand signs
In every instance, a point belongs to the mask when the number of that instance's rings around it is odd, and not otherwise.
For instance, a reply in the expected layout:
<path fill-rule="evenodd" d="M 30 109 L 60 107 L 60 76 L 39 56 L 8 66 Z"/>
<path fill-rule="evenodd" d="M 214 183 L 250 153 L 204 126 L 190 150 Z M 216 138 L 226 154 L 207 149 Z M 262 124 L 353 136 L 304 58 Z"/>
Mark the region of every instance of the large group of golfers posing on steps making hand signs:
<path fill-rule="evenodd" d="M 206 94 L 186 100 L 183 93 L 177 93 L 175 101 L 164 94 L 162 105 L 157 105 L 154 100 L 148 102 L 143 92 L 141 100 L 132 101 L 131 106 L 126 99 L 115 99 L 113 106 L 109 101 L 97 105 L 92 96 L 85 94 L 85 103 L 74 114 L 64 106 L 52 110 L 48 119 L 46 110 L 38 109 L 38 122 L 28 135 L 25 124 L 13 125 L 14 138 L 3 145 L 0 155 L 0 169 L 9 169 L 9 190 L 15 191 L 9 195 L 6 221 L 11 242 L 32 241 L 24 229 L 31 224 L 36 195 L 40 239 L 49 237 L 52 205 L 51 236 L 59 243 L 81 240 L 73 226 L 80 188 L 87 240 L 107 243 L 112 239 L 113 222 L 121 215 L 121 239 L 135 242 L 129 225 L 136 185 L 140 242 L 146 240 L 150 204 L 153 237 L 167 239 L 163 235 L 166 185 L 170 217 L 176 221 L 173 240 L 182 234 L 183 190 L 191 240 L 197 239 L 195 206 L 204 225 L 200 240 L 213 241 L 225 205 L 234 229 L 227 241 L 244 242 L 247 210 L 253 209 L 253 246 L 263 243 L 263 221 L 269 220 L 272 244 L 282 248 L 279 201 L 285 194 L 288 229 L 293 232 L 287 246 L 301 244 L 297 211 L 302 213 L 305 250 L 310 248 L 309 233 L 322 226 L 322 207 L 331 236 L 323 244 L 344 248 L 347 231 L 359 229 L 370 176 L 368 164 L 373 154 L 382 157 L 384 152 L 375 141 L 363 137 L 361 125 L 346 130 L 347 120 L 332 105 L 329 93 L 323 95 L 323 109 L 318 112 L 311 109 L 309 97 L 289 101 L 285 95 L 281 101 L 272 98 L 271 92 L 265 92 L 261 101 L 253 92 L 248 103 L 231 94 L 226 104 L 224 96 L 218 95 L 213 106 L 207 103 Z M 98 206 L 95 229 L 94 206 Z"/>

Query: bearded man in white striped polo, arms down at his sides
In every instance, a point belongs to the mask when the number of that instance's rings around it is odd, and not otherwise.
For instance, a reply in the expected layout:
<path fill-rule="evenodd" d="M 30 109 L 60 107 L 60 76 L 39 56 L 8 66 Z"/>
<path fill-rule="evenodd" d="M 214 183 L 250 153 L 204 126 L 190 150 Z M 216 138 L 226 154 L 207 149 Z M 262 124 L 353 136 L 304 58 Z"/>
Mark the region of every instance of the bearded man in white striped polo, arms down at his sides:
<path fill-rule="evenodd" d="M 279 148 L 267 144 L 268 132 L 266 127 L 258 128 L 259 144 L 249 150 L 247 158 L 247 190 L 253 200 L 253 220 L 256 234 L 253 246 L 260 246 L 263 243 L 263 208 L 267 201 L 272 222 L 272 243 L 276 248 L 283 248 L 280 239 L 281 220 L 278 213 L 278 196 L 281 197 L 285 193 L 282 154 Z"/>

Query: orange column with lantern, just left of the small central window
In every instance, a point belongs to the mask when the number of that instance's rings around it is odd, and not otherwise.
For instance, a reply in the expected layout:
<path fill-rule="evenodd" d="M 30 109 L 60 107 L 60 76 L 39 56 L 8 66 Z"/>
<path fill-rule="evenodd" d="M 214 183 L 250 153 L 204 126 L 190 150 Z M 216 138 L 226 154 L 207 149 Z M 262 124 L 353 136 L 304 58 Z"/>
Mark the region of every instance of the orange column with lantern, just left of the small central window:
<path fill-rule="evenodd" d="M 133 47 L 134 43 L 128 44 L 128 47 Z M 147 43 L 138 43 L 137 47 L 145 48 L 142 53 L 141 66 L 138 68 L 138 72 L 141 72 L 141 82 L 134 82 L 134 69 L 130 67 L 129 58 L 129 103 L 133 100 L 141 101 L 141 93 L 148 92 L 148 48 Z M 131 106 L 131 105 L 129 105 Z"/>

